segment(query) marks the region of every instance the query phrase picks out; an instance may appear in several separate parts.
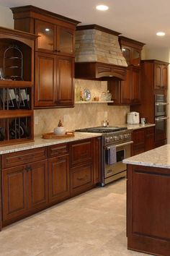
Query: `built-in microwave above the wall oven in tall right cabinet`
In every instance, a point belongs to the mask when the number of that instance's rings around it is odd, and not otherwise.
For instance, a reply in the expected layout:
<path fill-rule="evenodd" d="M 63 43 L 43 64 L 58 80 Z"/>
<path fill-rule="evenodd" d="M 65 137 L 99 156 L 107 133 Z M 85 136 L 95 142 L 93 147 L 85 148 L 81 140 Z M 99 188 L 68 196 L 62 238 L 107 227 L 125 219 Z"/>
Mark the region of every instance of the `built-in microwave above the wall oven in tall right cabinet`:
<path fill-rule="evenodd" d="M 166 116 L 166 95 L 156 94 L 155 95 L 155 116 Z"/>

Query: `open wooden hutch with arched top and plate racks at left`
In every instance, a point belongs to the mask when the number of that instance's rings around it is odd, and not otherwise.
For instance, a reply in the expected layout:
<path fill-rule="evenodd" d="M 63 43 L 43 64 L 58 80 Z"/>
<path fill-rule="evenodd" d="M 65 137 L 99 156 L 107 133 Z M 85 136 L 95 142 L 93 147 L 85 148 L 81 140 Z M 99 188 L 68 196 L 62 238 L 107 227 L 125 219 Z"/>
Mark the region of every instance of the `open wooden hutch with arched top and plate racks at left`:
<path fill-rule="evenodd" d="M 34 139 L 35 38 L 30 33 L 0 28 L 0 146 Z"/>

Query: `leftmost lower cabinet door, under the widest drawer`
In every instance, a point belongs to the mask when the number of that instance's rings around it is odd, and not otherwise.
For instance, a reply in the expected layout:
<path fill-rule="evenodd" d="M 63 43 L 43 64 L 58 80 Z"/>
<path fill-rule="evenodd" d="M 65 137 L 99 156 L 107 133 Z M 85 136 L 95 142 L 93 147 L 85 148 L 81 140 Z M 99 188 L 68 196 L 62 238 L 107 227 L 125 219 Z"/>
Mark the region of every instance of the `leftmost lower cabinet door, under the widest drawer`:
<path fill-rule="evenodd" d="M 2 170 L 3 221 L 27 210 L 27 172 L 24 166 Z"/>

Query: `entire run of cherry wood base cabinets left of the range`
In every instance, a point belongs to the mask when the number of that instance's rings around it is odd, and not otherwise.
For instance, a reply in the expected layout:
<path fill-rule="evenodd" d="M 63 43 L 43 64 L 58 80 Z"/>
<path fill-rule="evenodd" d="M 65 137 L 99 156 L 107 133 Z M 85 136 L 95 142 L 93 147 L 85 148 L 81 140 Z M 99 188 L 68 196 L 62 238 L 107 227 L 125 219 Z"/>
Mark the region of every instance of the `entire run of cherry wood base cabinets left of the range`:
<path fill-rule="evenodd" d="M 0 157 L 0 231 L 101 180 L 101 137 L 6 153 Z"/>

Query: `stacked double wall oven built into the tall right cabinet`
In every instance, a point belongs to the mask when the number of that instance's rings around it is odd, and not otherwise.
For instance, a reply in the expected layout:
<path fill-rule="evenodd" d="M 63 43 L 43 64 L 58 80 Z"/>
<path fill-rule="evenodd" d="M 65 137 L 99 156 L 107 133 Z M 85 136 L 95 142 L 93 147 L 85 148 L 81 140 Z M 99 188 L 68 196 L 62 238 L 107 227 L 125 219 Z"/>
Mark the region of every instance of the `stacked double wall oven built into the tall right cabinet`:
<path fill-rule="evenodd" d="M 166 123 L 167 123 L 167 101 L 166 95 L 155 95 L 155 142 L 166 142 Z M 164 144 L 164 143 L 162 143 Z"/>

